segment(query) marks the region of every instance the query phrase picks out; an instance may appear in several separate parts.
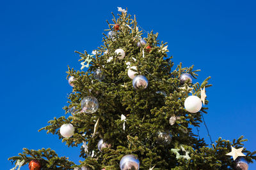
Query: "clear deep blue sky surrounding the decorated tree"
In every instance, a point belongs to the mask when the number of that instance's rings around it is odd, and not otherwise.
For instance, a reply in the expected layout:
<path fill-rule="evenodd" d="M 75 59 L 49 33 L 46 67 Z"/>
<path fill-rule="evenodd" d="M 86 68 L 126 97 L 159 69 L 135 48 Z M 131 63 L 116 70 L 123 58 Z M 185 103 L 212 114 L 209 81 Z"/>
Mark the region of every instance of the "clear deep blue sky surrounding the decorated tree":
<path fill-rule="evenodd" d="M 256 150 L 255 2 L 13 0 L 0 5 L 1 169 L 13 167 L 7 159 L 22 148 L 52 148 L 78 162 L 79 148 L 37 130 L 63 115 L 72 90 L 67 65 L 80 67 L 74 50 L 91 52 L 102 43 L 117 6 L 127 7 L 143 29 L 159 32 L 175 66 L 195 64 L 200 83 L 212 76 L 205 115 L 212 139 L 243 134 L 245 147 Z M 200 136 L 209 143 L 203 125 Z"/>

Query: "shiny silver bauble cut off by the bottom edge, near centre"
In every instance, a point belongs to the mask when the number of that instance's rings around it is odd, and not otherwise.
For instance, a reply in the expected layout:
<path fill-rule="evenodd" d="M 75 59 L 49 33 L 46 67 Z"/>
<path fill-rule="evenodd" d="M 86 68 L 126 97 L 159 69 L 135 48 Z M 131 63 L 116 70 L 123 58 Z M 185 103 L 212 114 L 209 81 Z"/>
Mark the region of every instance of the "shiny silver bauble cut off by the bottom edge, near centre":
<path fill-rule="evenodd" d="M 120 160 L 121 170 L 138 170 L 140 169 L 140 161 L 134 155 L 125 155 Z"/>

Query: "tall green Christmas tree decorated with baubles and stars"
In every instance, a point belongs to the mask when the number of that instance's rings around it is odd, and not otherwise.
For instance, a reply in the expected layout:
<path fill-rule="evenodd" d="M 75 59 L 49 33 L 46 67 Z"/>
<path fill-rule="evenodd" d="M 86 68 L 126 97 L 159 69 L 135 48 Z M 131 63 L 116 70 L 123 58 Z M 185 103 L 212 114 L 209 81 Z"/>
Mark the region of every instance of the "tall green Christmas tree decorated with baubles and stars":
<path fill-rule="evenodd" d="M 200 70 L 174 67 L 167 43 L 153 31 L 143 38 L 136 17 L 118 11 L 103 45 L 92 54 L 77 52 L 81 71 L 68 67 L 69 116 L 39 130 L 58 134 L 67 146 L 83 144 L 83 161 L 24 148 L 9 159 L 13 169 L 248 169 L 256 152 L 243 148 L 243 136 L 207 145 L 192 131 L 207 113 L 210 77 L 194 83 Z"/>

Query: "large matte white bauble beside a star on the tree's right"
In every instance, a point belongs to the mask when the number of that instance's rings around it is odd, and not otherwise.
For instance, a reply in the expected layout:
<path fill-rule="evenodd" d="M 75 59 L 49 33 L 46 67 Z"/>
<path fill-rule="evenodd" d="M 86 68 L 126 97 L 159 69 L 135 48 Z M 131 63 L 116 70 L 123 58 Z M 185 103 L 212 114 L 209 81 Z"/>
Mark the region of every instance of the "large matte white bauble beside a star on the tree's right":
<path fill-rule="evenodd" d="M 201 110 L 202 108 L 202 101 L 197 96 L 189 96 L 185 100 L 185 108 L 190 113 L 196 113 Z"/>

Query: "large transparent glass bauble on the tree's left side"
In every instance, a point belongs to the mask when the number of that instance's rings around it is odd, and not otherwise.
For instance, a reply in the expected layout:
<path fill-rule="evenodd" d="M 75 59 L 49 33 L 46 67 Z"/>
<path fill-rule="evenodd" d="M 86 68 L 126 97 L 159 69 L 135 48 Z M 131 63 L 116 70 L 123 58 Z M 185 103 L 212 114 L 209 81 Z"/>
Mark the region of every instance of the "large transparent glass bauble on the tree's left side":
<path fill-rule="evenodd" d="M 85 113 L 95 113 L 99 108 L 99 102 L 95 97 L 87 96 L 81 101 L 81 108 Z"/>

